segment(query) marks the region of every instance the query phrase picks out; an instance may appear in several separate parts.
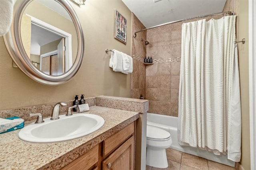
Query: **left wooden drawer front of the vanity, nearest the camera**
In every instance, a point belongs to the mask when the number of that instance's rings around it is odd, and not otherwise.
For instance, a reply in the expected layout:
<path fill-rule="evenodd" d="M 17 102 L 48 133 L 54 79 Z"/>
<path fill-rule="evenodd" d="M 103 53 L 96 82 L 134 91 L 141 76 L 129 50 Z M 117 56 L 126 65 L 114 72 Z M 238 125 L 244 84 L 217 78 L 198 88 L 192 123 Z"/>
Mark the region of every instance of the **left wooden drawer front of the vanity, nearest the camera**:
<path fill-rule="evenodd" d="M 88 170 L 98 162 L 99 147 L 98 145 L 65 166 L 62 170 Z"/>

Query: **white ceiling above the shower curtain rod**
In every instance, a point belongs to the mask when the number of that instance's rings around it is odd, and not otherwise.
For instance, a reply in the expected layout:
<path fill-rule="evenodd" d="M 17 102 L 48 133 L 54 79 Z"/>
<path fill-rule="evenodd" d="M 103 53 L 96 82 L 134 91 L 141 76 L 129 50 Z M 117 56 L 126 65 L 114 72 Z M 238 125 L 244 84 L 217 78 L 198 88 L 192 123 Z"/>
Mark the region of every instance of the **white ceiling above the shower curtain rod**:
<path fill-rule="evenodd" d="M 222 12 L 226 3 L 226 0 L 122 1 L 147 28 L 171 21 Z"/>

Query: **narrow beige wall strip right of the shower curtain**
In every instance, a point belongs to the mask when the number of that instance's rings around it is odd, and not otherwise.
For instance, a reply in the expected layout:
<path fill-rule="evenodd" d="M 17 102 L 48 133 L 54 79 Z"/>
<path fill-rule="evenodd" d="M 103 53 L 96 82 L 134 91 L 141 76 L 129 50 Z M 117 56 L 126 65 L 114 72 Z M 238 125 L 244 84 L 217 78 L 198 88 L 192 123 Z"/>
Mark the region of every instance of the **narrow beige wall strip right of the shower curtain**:
<path fill-rule="evenodd" d="M 238 0 L 237 40 L 248 40 L 248 0 Z M 250 170 L 250 115 L 249 115 L 249 70 L 248 41 L 238 43 L 238 62 L 242 107 L 242 158 L 244 170 Z"/>

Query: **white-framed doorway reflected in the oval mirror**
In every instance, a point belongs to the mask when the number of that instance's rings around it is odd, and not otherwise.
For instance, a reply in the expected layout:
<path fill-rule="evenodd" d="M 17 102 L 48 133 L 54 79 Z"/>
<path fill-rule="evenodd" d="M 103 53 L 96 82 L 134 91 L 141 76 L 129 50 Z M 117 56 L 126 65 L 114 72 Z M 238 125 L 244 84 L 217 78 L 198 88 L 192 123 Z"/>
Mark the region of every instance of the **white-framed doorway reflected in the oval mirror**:
<path fill-rule="evenodd" d="M 38 69 L 44 72 L 45 74 L 64 74 L 72 67 L 73 64 L 72 35 L 70 33 L 63 31 L 62 29 L 54 27 L 53 25 L 45 23 L 44 21 L 29 16 L 28 14 L 24 16 L 25 17 L 22 17 L 24 18 L 24 20 L 25 18 L 29 18 L 28 21 L 23 20 L 23 25 L 25 25 L 25 23 L 29 23 L 27 27 L 30 29 L 31 38 L 28 38 L 28 42 L 24 40 L 22 41 L 22 43 L 24 44 L 24 47 L 27 44 L 25 49 L 28 49 L 26 53 L 29 53 L 28 57 L 30 58 L 30 61 L 32 63 L 38 63 L 38 66 L 36 67 L 40 67 Z M 27 28 L 25 26 L 23 27 L 24 29 Z M 54 56 L 54 51 L 57 51 L 56 53 L 58 53 L 58 58 L 56 59 L 56 66 L 54 68 L 52 68 L 52 65 L 49 65 L 47 67 L 43 66 L 44 70 L 42 70 L 42 65 L 45 65 L 46 63 L 50 64 L 50 62 L 52 63 L 52 61 L 55 60 L 54 58 L 50 57 Z M 49 56 L 49 59 L 46 58 L 42 60 L 42 57 L 47 56 Z M 46 62 L 41 63 L 42 61 Z M 57 71 L 55 71 L 56 69 Z"/>

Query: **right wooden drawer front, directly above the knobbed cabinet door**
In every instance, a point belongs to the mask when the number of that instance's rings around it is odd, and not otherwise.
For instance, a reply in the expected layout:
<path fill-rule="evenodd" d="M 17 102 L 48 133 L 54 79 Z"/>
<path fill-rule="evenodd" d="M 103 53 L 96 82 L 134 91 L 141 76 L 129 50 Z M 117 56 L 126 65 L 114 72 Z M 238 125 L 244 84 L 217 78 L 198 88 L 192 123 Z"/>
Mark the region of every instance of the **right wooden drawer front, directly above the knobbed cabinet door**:
<path fill-rule="evenodd" d="M 130 135 L 134 133 L 134 122 L 126 126 L 118 133 L 112 135 L 104 141 L 103 156 L 106 156 L 110 151 L 122 144 Z"/>

